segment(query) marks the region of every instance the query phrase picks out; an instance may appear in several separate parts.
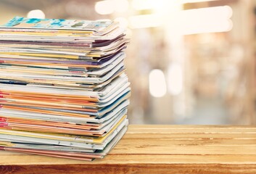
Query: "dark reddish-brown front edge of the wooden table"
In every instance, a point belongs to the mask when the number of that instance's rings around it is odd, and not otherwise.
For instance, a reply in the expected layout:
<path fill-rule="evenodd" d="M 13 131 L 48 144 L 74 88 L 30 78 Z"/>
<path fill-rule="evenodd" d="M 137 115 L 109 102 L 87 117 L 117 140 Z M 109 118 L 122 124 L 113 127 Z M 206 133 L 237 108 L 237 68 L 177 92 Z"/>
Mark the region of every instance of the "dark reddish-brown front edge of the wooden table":
<path fill-rule="evenodd" d="M 253 174 L 256 173 L 255 165 L 204 165 L 204 164 L 134 164 L 134 165 L 42 165 L 40 167 L 34 165 L 28 166 L 4 166 L 0 168 L 2 174 L 59 174 L 59 173 L 76 173 L 76 174 L 99 174 L 99 173 L 147 173 L 147 174 Z"/>

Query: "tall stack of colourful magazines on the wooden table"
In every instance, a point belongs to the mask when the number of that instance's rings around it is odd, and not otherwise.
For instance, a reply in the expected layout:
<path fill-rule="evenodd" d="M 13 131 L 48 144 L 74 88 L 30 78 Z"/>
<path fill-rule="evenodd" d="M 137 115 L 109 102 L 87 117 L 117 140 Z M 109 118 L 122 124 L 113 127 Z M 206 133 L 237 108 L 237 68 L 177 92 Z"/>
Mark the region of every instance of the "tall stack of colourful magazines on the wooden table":
<path fill-rule="evenodd" d="M 14 17 L 0 27 L 0 149 L 102 158 L 127 129 L 125 30 Z"/>

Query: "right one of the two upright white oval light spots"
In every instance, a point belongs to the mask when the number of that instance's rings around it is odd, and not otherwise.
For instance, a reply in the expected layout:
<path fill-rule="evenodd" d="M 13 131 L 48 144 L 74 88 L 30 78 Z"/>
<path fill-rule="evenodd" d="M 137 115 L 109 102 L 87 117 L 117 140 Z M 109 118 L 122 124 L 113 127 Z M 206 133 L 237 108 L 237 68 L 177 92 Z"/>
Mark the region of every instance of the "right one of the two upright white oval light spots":
<path fill-rule="evenodd" d="M 168 91 L 172 95 L 181 94 L 183 88 L 183 72 L 181 65 L 176 63 L 168 68 Z"/>

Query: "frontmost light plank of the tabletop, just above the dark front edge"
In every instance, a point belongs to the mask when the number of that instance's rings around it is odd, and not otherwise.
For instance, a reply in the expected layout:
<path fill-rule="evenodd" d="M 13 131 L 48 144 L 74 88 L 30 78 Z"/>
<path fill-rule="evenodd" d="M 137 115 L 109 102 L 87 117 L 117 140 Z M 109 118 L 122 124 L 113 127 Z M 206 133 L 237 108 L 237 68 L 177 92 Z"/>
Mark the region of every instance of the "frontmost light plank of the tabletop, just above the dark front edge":
<path fill-rule="evenodd" d="M 255 165 L 255 155 L 166 155 L 166 154 L 108 154 L 104 159 L 96 159 L 93 162 L 65 159 L 57 157 L 45 157 L 40 155 L 2 155 L 3 165 L 127 165 L 127 164 L 223 164 L 223 165 Z"/>

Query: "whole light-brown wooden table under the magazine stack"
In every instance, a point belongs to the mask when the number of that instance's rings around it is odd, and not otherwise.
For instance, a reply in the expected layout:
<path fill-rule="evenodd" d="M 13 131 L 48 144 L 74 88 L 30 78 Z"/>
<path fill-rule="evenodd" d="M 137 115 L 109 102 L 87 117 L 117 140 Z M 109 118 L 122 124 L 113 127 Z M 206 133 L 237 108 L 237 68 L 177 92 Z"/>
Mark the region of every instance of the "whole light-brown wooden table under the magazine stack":
<path fill-rule="evenodd" d="M 93 162 L 2 152 L 0 173 L 256 173 L 256 126 L 130 125 Z"/>

